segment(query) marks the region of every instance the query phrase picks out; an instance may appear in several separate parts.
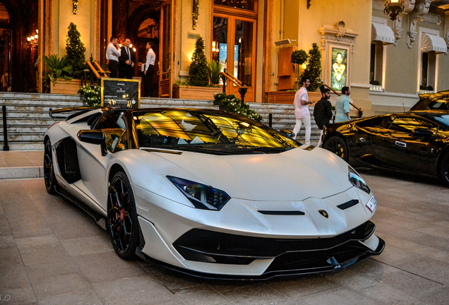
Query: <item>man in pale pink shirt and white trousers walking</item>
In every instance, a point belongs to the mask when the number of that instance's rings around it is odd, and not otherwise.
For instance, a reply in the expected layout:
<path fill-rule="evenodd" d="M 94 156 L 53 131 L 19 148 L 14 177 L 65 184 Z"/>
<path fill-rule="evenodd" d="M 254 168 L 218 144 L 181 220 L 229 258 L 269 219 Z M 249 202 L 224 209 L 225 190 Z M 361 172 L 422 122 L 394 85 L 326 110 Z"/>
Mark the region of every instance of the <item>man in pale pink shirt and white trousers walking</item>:
<path fill-rule="evenodd" d="M 301 88 L 299 88 L 296 95 L 294 95 L 294 116 L 297 119 L 297 124 L 293 128 L 294 139 L 297 139 L 297 135 L 301 130 L 301 125 L 304 123 L 306 128 L 306 145 L 310 145 L 310 135 L 311 135 L 311 123 L 310 123 L 310 111 L 309 104 L 309 94 L 307 93 L 307 88 L 310 86 L 310 79 L 303 77 L 301 78 Z"/>

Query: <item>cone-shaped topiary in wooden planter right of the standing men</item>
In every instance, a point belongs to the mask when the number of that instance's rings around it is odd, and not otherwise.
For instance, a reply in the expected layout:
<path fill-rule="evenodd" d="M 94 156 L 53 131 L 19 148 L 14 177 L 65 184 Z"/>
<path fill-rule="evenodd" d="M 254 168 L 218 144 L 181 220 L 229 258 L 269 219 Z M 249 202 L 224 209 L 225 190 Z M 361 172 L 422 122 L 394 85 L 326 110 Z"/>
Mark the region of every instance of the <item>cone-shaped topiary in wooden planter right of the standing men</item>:
<path fill-rule="evenodd" d="M 209 73 L 208 60 L 204 54 L 204 41 L 198 37 L 188 68 L 188 79 L 186 82 L 174 83 L 173 97 L 186 100 L 214 100 L 213 95 L 220 89 L 210 86 Z"/>

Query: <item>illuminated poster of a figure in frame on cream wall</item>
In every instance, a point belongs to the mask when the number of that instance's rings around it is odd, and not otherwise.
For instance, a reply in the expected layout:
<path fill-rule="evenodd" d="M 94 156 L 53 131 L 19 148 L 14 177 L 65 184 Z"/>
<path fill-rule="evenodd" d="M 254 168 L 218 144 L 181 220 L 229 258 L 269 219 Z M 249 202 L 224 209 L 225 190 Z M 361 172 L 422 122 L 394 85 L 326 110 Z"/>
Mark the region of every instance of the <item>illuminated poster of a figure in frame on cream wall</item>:
<path fill-rule="evenodd" d="M 330 56 L 330 88 L 341 91 L 348 83 L 348 50 L 332 47 Z"/>

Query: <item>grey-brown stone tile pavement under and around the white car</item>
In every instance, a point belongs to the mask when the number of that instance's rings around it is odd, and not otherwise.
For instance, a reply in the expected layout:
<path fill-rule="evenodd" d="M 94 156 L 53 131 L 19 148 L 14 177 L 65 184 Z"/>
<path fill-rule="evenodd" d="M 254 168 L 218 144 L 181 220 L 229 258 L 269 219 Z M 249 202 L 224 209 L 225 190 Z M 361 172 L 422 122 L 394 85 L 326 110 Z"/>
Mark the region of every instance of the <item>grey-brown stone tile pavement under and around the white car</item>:
<path fill-rule="evenodd" d="M 0 181 L 0 305 L 448 304 L 449 189 L 359 170 L 373 189 L 381 256 L 324 275 L 202 280 L 123 261 L 107 232 L 43 179 Z"/>

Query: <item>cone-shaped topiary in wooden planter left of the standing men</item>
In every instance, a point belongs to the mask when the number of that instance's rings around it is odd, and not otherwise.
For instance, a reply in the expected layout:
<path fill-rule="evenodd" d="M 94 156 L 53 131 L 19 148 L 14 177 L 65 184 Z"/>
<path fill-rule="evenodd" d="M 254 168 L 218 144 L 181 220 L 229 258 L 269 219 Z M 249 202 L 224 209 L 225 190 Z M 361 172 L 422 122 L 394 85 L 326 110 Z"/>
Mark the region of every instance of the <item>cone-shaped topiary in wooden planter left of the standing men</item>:
<path fill-rule="evenodd" d="M 85 46 L 80 37 L 81 35 L 80 32 L 78 32 L 76 25 L 74 23 L 70 23 L 70 25 L 68 25 L 65 57 L 67 66 L 71 66 L 72 76 L 75 79 L 56 79 L 50 82 L 50 92 L 64 94 L 76 94 L 78 92 L 81 86 L 81 80 L 79 78 L 82 71 L 86 68 L 84 54 Z"/>

